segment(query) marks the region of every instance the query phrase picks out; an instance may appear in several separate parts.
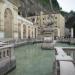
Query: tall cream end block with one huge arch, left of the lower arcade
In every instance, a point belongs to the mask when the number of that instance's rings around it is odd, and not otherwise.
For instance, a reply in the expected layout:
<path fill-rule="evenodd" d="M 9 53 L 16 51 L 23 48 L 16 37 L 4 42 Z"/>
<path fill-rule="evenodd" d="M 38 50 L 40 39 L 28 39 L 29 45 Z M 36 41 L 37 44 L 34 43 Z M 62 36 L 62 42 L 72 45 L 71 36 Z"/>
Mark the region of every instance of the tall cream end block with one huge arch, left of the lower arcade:
<path fill-rule="evenodd" d="M 9 11 L 8 11 L 9 10 Z M 6 38 L 11 38 L 9 35 L 10 33 L 8 33 L 8 31 L 10 31 L 12 34 L 12 38 L 18 38 L 18 30 L 17 30 L 17 12 L 18 12 L 18 8 L 16 6 L 14 6 L 13 4 L 11 4 L 10 2 L 4 0 L 4 2 L 0 2 L 0 32 L 3 33 L 3 36 L 6 37 Z M 11 13 L 11 14 L 10 14 Z M 6 15 L 5 15 L 6 14 Z M 10 17 L 10 15 L 12 15 L 12 18 Z M 9 18 L 11 19 L 9 19 Z M 12 25 L 11 23 L 9 22 L 12 22 Z M 6 23 L 7 22 L 7 23 Z M 9 26 L 8 26 L 8 23 L 9 23 Z M 12 26 L 12 28 L 11 28 Z M 7 36 L 5 36 L 5 27 L 7 27 Z M 15 29 L 16 28 L 16 29 Z M 15 36 L 16 34 L 16 36 Z"/>

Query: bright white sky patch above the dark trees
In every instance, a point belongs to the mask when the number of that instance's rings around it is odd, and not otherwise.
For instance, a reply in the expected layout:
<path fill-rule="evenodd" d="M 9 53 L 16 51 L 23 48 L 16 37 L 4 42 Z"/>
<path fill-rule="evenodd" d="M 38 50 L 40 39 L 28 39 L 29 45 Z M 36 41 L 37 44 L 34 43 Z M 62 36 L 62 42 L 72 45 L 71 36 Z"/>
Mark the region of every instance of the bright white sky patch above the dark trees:
<path fill-rule="evenodd" d="M 75 11 L 75 0 L 57 0 L 62 10 L 70 12 Z"/>

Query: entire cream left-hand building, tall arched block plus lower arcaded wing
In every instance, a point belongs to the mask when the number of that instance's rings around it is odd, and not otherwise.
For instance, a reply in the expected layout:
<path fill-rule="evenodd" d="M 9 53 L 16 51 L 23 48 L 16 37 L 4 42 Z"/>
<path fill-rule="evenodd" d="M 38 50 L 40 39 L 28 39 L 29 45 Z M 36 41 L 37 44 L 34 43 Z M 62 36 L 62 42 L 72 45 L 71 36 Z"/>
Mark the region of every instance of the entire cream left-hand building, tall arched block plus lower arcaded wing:
<path fill-rule="evenodd" d="M 0 0 L 0 38 L 35 37 L 37 37 L 37 27 L 18 15 L 18 6 L 8 0 Z"/>

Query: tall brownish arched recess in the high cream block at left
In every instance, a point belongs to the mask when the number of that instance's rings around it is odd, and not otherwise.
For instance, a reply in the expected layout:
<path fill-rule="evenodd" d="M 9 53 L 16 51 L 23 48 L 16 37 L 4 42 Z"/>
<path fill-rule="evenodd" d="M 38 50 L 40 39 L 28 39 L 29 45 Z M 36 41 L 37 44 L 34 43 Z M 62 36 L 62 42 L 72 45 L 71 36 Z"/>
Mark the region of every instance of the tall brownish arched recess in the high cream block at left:
<path fill-rule="evenodd" d="M 13 16 L 9 8 L 5 9 L 4 12 L 4 36 L 5 38 L 12 38 L 12 24 Z"/>

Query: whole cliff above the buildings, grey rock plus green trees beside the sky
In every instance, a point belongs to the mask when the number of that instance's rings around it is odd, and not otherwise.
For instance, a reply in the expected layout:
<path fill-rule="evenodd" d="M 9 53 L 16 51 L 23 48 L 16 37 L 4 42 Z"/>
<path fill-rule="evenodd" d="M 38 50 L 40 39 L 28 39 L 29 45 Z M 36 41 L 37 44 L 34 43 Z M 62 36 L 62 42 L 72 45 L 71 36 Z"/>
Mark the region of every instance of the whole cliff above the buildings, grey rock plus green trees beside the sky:
<path fill-rule="evenodd" d="M 19 14 L 24 17 L 39 15 L 41 10 L 45 13 L 49 13 L 52 8 L 55 11 L 60 8 L 57 0 L 20 0 L 20 4 Z"/>

